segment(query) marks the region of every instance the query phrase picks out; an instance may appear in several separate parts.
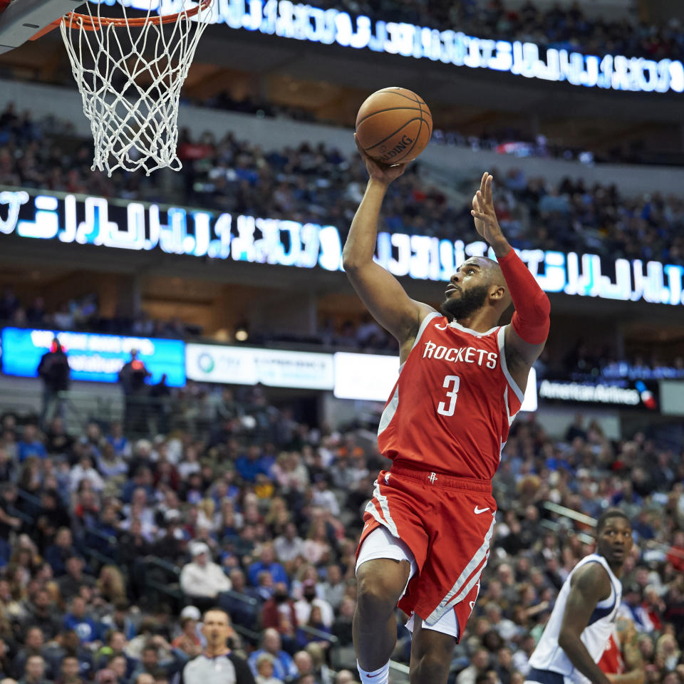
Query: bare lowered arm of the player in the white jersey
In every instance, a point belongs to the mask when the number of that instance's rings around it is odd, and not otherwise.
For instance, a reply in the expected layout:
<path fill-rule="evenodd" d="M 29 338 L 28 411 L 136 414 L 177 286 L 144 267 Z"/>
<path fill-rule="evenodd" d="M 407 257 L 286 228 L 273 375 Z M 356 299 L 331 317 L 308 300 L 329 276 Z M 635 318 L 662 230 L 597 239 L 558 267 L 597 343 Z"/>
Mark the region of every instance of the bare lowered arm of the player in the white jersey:
<path fill-rule="evenodd" d="M 599 563 L 588 563 L 572 578 L 570 593 L 565 606 L 563 623 L 558 635 L 558 645 L 565 651 L 570 662 L 591 681 L 591 684 L 611 684 L 611 680 L 586 650 L 581 634 L 589 624 L 591 613 L 598 601 L 611 594 L 611 580 L 606 569 Z"/>

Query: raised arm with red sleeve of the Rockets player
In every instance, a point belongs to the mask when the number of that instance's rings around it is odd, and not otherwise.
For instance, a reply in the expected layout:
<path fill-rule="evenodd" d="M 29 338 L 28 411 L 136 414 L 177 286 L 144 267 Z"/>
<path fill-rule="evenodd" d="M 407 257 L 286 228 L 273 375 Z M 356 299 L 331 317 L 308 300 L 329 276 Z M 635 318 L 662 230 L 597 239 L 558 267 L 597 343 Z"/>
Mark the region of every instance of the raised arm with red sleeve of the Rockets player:
<path fill-rule="evenodd" d="M 517 385 L 524 389 L 529 369 L 539 358 L 549 335 L 551 304 L 499 227 L 492 200 L 492 180 L 488 173 L 482 176 L 470 213 L 475 219 L 475 229 L 494 249 L 515 306 L 511 325 L 506 326 L 506 362 Z"/>

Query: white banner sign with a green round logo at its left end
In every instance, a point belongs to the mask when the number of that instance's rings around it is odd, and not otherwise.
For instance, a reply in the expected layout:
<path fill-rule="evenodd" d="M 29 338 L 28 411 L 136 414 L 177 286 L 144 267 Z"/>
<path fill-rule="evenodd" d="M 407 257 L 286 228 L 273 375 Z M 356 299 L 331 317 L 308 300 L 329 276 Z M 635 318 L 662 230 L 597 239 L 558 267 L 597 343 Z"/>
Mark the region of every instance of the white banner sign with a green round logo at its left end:
<path fill-rule="evenodd" d="M 187 344 L 185 352 L 190 380 L 311 390 L 333 388 L 332 354 L 194 343 Z"/>

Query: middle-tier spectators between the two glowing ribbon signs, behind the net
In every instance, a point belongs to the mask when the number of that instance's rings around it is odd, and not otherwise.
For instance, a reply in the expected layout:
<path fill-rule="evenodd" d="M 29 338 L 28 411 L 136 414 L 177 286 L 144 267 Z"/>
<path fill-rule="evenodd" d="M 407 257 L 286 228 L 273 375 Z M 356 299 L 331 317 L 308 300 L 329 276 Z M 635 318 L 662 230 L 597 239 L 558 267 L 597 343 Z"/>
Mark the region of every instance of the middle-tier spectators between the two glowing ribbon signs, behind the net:
<path fill-rule="evenodd" d="M 155 185 L 154 177 L 115 173 L 106 179 L 90 172 L 89 144 L 76 141 L 68 152 L 60 140 L 33 123 L 28 113 L 19 117 L 6 110 L 0 115 L 0 185 L 316 222 L 345 234 L 367 179 L 360 157 L 348 158 L 324 145 L 263 150 L 232 133 L 222 140 L 209 133 L 193 139 L 182 130 L 179 155 L 184 166 L 173 179 L 182 187 L 167 187 Z M 684 201 L 678 197 L 657 192 L 626 197 L 615 185 L 590 186 L 581 178 L 565 178 L 554 186 L 519 169 L 505 174 L 494 170 L 494 177 L 497 215 L 514 247 L 684 264 Z M 381 227 L 465 242 L 473 238 L 470 207 L 452 206 L 419 164 L 390 185 Z"/>

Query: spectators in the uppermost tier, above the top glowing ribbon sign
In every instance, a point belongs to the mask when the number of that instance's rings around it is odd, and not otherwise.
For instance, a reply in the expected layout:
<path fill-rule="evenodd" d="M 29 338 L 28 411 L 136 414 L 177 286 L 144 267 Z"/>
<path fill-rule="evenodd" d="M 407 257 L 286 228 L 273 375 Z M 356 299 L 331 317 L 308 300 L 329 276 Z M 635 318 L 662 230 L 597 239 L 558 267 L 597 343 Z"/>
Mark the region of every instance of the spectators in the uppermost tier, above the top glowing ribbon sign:
<path fill-rule="evenodd" d="M 323 0 L 337 7 L 337 1 Z M 584 4 L 584 3 L 582 3 Z M 454 28 L 468 36 L 531 41 L 548 48 L 648 59 L 681 59 L 684 31 L 679 19 L 667 25 L 636 21 L 631 16 L 587 16 L 582 4 L 554 3 L 543 9 L 532 1 L 514 7 L 507 0 L 342 0 L 352 14 L 383 21 L 407 21 L 430 28 Z"/>

